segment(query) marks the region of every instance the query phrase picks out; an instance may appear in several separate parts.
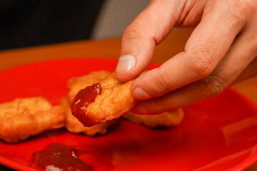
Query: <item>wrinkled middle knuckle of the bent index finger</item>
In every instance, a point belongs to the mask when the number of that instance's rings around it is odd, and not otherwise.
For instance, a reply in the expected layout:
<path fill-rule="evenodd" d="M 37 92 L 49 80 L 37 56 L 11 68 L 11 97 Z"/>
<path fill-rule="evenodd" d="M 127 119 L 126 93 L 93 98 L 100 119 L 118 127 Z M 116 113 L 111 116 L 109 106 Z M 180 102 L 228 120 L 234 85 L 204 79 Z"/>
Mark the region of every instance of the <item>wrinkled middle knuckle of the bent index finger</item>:
<path fill-rule="evenodd" d="M 193 71 L 195 71 L 198 76 L 201 76 L 201 78 L 209 76 L 215 68 L 213 64 L 213 59 L 215 58 L 215 53 L 211 51 L 197 52 L 196 55 L 191 58 Z"/>

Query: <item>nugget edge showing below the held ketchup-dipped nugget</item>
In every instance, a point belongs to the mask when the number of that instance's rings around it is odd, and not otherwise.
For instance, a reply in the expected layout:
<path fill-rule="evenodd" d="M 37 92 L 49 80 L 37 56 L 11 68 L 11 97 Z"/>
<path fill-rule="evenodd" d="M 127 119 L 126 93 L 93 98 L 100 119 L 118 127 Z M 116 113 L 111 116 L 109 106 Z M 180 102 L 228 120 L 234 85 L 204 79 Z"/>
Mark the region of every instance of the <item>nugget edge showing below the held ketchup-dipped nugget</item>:
<path fill-rule="evenodd" d="M 94 125 L 93 127 L 84 127 L 84 125 L 79 122 L 77 118 L 74 117 L 71 113 L 71 105 L 67 97 L 61 99 L 60 104 L 61 108 L 64 109 L 66 114 L 65 127 L 71 133 L 84 133 L 86 135 L 94 136 L 97 133 L 104 135 L 107 132 L 107 129 L 112 125 L 116 125 L 118 120 L 107 120 L 104 123 L 99 125 Z"/>

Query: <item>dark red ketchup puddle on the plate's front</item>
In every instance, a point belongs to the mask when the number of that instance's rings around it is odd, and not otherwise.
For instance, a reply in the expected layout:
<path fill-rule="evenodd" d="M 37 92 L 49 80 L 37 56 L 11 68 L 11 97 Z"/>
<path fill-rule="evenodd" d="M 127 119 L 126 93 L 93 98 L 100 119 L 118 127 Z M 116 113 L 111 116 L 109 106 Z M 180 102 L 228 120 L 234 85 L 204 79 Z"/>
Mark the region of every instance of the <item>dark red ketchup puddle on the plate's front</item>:
<path fill-rule="evenodd" d="M 34 152 L 32 164 L 46 171 L 92 170 L 89 165 L 79 159 L 76 150 L 57 143 L 46 146 L 43 151 Z"/>

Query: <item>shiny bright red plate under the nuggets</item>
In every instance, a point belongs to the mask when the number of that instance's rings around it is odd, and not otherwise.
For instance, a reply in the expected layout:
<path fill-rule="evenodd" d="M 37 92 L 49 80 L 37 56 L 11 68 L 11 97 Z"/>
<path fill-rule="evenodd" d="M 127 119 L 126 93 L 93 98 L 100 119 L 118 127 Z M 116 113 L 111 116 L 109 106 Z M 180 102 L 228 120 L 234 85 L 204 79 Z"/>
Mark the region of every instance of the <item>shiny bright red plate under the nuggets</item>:
<path fill-rule="evenodd" d="M 0 73 L 0 103 L 43 95 L 57 104 L 66 82 L 90 71 L 114 71 L 113 59 L 77 58 L 46 61 Z M 151 65 L 154 68 L 157 65 Z M 116 170 L 243 170 L 257 161 L 257 108 L 235 90 L 184 108 L 176 128 L 151 130 L 121 120 L 109 133 L 94 138 L 50 130 L 17 144 L 0 141 L 0 163 L 34 170 L 31 155 L 57 142 L 84 150 L 81 159 L 108 161 Z M 98 167 L 99 168 L 99 167 Z"/>

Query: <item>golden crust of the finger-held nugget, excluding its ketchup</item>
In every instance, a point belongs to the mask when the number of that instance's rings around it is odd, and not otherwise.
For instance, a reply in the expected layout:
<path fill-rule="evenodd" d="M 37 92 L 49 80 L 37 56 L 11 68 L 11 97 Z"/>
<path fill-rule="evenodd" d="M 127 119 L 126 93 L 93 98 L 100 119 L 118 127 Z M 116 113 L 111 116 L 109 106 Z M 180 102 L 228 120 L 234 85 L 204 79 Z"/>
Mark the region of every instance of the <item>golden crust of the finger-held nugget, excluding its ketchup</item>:
<path fill-rule="evenodd" d="M 101 94 L 97 95 L 94 102 L 90 103 L 83 112 L 85 115 L 83 125 L 91 127 L 104 123 L 106 120 L 113 120 L 129 113 L 136 100 L 132 97 L 130 86 L 132 81 L 121 83 L 116 80 L 115 73 L 106 76 L 100 81 Z M 80 102 L 81 100 L 79 100 Z M 77 104 L 74 103 L 74 104 Z M 76 105 L 74 111 L 76 113 Z M 80 120 L 81 121 L 81 120 Z"/>

